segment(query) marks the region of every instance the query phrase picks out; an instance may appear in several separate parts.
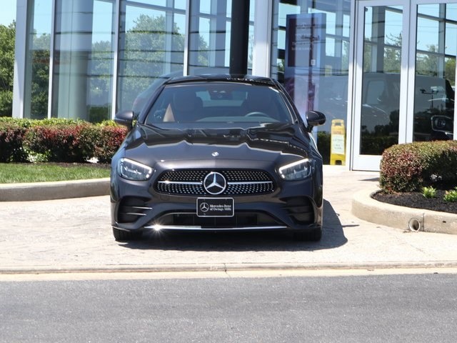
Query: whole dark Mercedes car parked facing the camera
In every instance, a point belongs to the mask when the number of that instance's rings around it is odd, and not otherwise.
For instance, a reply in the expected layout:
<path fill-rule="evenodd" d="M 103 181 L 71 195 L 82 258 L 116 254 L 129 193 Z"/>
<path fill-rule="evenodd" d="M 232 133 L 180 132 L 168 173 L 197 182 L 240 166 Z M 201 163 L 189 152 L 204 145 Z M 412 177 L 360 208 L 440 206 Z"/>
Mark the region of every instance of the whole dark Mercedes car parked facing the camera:
<path fill-rule="evenodd" d="M 278 81 L 256 76 L 172 78 L 139 116 L 111 164 L 117 241 L 145 230 L 322 234 L 322 158 L 311 129 Z"/>

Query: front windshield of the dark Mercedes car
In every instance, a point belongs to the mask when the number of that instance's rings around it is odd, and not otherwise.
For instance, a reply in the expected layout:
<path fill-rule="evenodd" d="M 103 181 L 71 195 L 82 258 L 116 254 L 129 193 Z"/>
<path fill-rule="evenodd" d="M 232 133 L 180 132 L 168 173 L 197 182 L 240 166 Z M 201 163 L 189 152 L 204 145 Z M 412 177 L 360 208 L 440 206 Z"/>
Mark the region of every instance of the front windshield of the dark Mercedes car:
<path fill-rule="evenodd" d="M 194 82 L 161 91 L 145 124 L 291 123 L 283 97 L 271 86 L 238 82 Z M 195 126 L 195 125 L 191 125 Z"/>

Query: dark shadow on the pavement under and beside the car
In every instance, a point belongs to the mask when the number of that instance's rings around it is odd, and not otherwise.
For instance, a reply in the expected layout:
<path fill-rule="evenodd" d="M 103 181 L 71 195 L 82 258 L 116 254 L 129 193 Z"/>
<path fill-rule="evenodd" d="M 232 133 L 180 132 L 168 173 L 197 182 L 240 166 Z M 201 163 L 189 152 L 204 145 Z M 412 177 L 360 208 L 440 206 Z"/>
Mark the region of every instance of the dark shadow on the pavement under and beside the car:
<path fill-rule="evenodd" d="M 298 242 L 285 232 L 145 232 L 142 239 L 119 243 L 129 249 L 161 249 L 180 251 L 251 252 L 251 251 L 316 251 L 346 244 L 343 227 L 331 204 L 323 204 L 323 236 L 321 242 Z"/>

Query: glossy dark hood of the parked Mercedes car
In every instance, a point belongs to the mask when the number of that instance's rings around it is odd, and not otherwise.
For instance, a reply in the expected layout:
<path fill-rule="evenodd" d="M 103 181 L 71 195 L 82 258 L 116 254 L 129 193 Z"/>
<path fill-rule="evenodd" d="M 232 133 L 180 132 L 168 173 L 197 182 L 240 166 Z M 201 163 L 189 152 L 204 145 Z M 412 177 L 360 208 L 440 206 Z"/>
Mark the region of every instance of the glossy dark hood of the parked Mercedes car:
<path fill-rule="evenodd" d="M 124 141 L 124 149 L 126 157 L 149 165 L 154 161 L 215 158 L 275 161 L 285 155 L 306 158 L 310 139 L 298 124 L 226 129 L 168 129 L 138 124 Z"/>

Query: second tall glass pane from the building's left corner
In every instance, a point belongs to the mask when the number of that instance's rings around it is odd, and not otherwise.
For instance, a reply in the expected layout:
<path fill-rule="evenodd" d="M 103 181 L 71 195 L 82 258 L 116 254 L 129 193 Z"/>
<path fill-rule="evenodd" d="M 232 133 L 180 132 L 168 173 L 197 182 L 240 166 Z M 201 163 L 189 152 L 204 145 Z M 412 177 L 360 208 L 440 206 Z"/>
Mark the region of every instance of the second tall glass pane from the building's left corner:
<path fill-rule="evenodd" d="M 51 116 L 111 117 L 114 0 L 56 1 Z"/>

